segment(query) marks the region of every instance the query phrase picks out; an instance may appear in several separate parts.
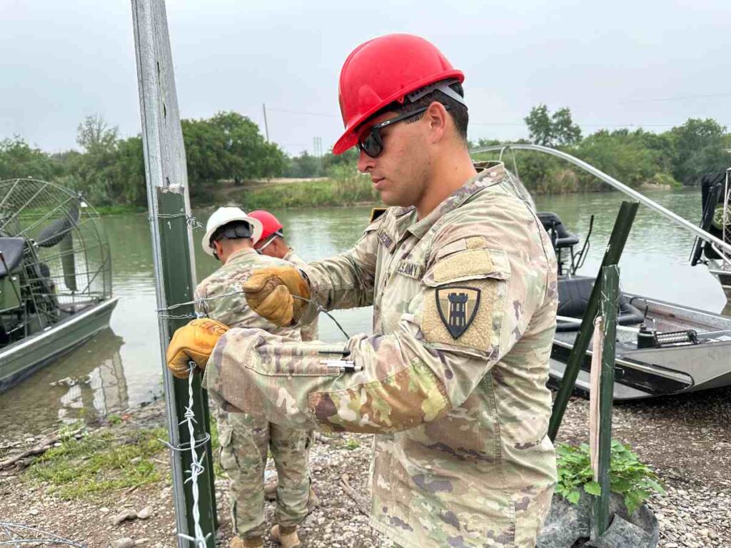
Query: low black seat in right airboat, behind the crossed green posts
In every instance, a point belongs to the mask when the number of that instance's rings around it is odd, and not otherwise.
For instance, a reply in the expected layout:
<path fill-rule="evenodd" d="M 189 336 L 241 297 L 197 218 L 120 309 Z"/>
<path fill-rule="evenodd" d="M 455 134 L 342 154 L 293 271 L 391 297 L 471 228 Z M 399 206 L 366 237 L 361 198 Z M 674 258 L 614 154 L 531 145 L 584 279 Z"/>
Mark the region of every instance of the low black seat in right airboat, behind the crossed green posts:
<path fill-rule="evenodd" d="M 583 318 L 589 297 L 591 297 L 591 289 L 594 288 L 594 279 L 588 276 L 558 278 L 558 316 Z M 644 314 L 630 304 L 629 298 L 620 292 L 617 323 L 620 325 L 640 324 L 644 318 Z M 556 324 L 556 331 L 577 331 L 579 327 L 580 324 L 572 321 L 559 320 Z"/>

